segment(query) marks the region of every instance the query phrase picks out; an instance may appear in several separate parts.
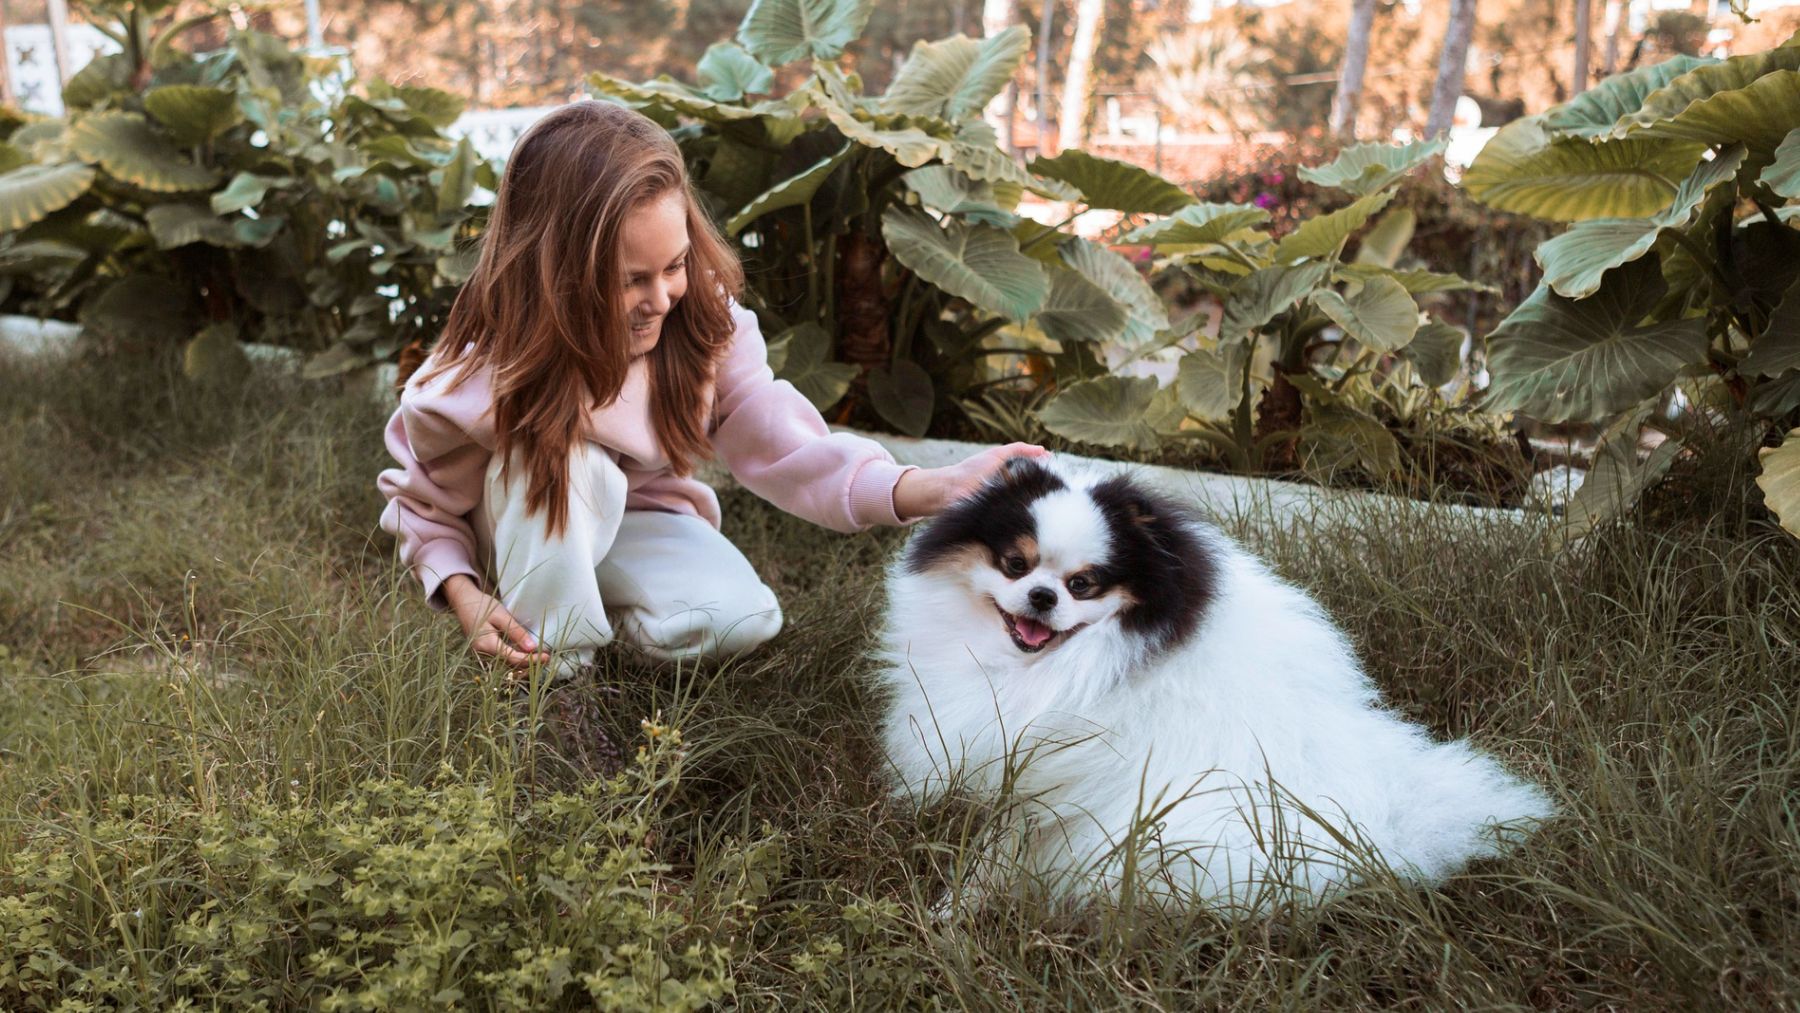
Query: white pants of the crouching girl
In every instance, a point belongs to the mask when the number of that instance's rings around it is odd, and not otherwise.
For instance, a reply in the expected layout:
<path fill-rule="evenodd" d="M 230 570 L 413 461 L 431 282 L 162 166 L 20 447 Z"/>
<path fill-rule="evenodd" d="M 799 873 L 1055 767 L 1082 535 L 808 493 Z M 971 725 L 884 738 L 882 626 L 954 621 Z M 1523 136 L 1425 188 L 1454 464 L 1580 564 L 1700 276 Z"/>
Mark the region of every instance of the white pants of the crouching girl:
<path fill-rule="evenodd" d="M 659 659 L 731 655 L 781 630 L 781 605 L 749 560 L 711 524 L 684 513 L 625 509 L 625 471 L 580 441 L 569 459 L 569 513 L 556 536 L 526 511 L 515 457 L 488 464 L 475 538 L 495 596 L 524 623 L 558 673 L 589 660 L 617 632 Z"/>

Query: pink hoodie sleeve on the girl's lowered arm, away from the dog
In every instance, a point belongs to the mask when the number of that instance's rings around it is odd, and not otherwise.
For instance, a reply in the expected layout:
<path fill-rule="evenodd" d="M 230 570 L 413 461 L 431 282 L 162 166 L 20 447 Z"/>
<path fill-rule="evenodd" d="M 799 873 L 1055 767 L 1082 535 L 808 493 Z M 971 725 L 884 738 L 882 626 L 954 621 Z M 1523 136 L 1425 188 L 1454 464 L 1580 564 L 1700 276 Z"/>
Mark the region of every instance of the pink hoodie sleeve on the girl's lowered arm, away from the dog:
<path fill-rule="evenodd" d="M 477 378 L 455 390 L 446 390 L 443 378 L 423 389 L 409 383 L 387 421 L 387 452 L 398 466 L 376 479 L 387 497 L 382 529 L 400 542 L 400 561 L 412 569 L 427 605 L 437 610 L 446 608 L 445 579 L 454 574 L 481 579 L 468 513 L 481 502 L 493 457 L 473 425 L 482 417 L 484 392 L 486 383 Z"/>

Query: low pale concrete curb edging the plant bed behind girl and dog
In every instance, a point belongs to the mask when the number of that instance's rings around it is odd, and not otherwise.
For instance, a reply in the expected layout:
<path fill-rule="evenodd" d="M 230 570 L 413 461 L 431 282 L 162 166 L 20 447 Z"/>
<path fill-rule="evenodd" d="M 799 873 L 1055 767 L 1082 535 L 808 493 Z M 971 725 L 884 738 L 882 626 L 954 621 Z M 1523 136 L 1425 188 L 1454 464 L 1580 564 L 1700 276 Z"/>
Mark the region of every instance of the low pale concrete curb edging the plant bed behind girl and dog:
<path fill-rule="evenodd" d="M 13 349 L 27 356 L 67 354 L 76 347 L 81 327 L 61 320 L 36 320 L 31 317 L 0 317 L 0 347 Z M 299 367 L 301 353 L 277 345 L 247 344 L 245 353 L 257 362 L 284 363 Z M 367 383 L 371 394 L 383 405 L 394 403 L 394 367 L 376 365 L 346 374 L 346 383 Z M 940 468 L 954 464 L 988 450 L 992 444 L 963 443 L 956 439 L 913 439 L 880 432 L 862 432 L 839 426 L 868 437 L 893 453 L 900 464 L 920 468 Z M 1431 516 L 1454 516 L 1474 524 L 1550 524 L 1553 518 L 1543 511 L 1472 507 L 1460 504 L 1427 504 L 1404 497 L 1370 493 L 1361 489 L 1330 489 L 1325 486 L 1307 486 L 1301 482 L 1283 482 L 1278 479 L 1247 479 L 1242 475 L 1222 475 L 1213 471 L 1188 471 L 1161 464 L 1132 464 L 1125 461 L 1107 461 L 1100 457 L 1060 455 L 1064 461 L 1102 473 L 1125 473 L 1150 488 L 1190 502 L 1202 515 L 1222 524 L 1247 524 L 1260 529 L 1292 529 L 1300 525 L 1346 525 L 1355 524 L 1373 511 L 1393 515 L 1395 511 Z M 722 466 L 707 464 L 700 470 L 700 479 L 713 488 L 731 488 L 736 482 Z"/>

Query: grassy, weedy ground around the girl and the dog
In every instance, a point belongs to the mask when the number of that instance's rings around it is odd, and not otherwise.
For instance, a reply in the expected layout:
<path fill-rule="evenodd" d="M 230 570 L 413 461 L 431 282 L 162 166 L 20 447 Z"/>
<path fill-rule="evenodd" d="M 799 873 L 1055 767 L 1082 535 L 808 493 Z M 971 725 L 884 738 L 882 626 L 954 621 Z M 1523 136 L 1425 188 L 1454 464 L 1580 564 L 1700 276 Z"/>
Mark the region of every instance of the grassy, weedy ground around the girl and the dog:
<path fill-rule="evenodd" d="M 596 779 L 544 731 L 571 700 L 499 686 L 391 561 L 382 421 L 286 380 L 0 363 L 0 1006 L 1800 1002 L 1786 534 L 1240 529 L 1393 705 L 1566 815 L 1440 891 L 1247 923 L 1026 898 L 945 927 L 983 810 L 886 797 L 859 678 L 902 533 L 727 493 L 788 630 L 558 691 L 646 747 Z"/>

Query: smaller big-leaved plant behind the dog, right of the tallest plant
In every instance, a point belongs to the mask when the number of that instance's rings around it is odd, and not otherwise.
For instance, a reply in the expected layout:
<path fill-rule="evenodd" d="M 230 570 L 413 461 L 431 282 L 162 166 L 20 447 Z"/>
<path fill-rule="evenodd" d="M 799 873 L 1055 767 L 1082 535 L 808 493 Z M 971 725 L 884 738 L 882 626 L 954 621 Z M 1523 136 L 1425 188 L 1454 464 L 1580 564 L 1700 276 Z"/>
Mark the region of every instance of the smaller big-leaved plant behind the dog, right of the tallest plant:
<path fill-rule="evenodd" d="M 1267 211 L 1240 203 L 1195 203 L 1123 236 L 1208 290 L 1220 304 L 1219 326 L 1157 342 L 1183 349 L 1174 385 L 1089 380 L 1051 399 L 1044 421 L 1116 446 L 1202 441 L 1238 470 L 1352 468 L 1375 480 L 1406 479 L 1393 425 L 1453 410 L 1440 389 L 1456 380 L 1463 345 L 1463 331 L 1433 318 L 1418 299 L 1481 288 L 1453 273 L 1402 270 L 1413 220 L 1404 211 L 1381 216 L 1399 182 L 1440 151 L 1442 142 L 1359 144 L 1328 166 L 1301 169 L 1350 202 L 1280 239 L 1265 230 Z"/>

